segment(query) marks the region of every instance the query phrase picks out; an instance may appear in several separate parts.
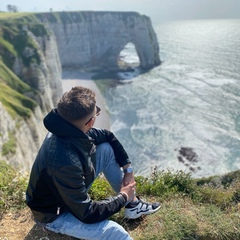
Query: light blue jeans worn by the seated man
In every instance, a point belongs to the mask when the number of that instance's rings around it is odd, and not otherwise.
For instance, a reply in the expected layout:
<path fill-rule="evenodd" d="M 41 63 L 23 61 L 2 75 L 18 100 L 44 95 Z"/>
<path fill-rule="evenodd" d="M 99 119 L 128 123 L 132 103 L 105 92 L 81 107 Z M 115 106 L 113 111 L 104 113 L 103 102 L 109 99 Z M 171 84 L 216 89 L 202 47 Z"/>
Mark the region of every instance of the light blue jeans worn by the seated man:
<path fill-rule="evenodd" d="M 103 172 L 112 188 L 119 192 L 122 183 L 122 171 L 115 161 L 112 147 L 108 143 L 97 146 L 96 176 Z M 55 221 L 48 223 L 46 229 L 88 240 L 132 240 L 127 231 L 111 220 L 87 224 L 75 218 L 71 213 L 61 214 Z"/>

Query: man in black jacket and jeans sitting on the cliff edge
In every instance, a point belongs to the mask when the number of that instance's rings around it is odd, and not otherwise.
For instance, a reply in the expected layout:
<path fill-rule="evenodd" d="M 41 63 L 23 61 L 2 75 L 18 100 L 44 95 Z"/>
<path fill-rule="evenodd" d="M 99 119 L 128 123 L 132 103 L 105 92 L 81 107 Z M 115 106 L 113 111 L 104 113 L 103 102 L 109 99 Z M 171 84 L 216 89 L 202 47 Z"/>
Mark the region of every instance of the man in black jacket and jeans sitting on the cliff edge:
<path fill-rule="evenodd" d="M 46 229 L 81 239 L 132 239 L 116 222 L 107 220 L 125 207 L 136 219 L 159 210 L 135 196 L 131 162 L 110 131 L 93 128 L 100 114 L 95 93 L 84 87 L 66 92 L 44 118 L 49 131 L 33 164 L 27 205 Z M 103 172 L 116 196 L 93 201 L 92 183 Z"/>

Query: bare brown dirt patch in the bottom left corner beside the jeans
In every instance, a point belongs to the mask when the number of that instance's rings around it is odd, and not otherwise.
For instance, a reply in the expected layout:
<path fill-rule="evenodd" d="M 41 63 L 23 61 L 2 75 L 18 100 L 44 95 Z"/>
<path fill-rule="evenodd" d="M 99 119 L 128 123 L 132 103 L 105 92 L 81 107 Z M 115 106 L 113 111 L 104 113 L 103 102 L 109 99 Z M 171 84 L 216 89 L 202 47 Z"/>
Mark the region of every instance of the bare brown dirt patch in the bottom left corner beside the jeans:
<path fill-rule="evenodd" d="M 26 208 L 21 212 L 6 213 L 0 219 L 0 240 L 76 240 L 55 234 L 37 226 Z"/>

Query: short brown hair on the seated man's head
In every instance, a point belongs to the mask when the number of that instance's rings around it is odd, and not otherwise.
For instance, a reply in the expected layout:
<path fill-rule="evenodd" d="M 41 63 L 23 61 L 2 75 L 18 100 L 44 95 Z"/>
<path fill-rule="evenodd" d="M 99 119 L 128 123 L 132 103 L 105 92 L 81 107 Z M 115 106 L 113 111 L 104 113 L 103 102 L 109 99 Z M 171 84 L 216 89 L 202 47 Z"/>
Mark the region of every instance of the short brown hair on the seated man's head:
<path fill-rule="evenodd" d="M 57 104 L 57 111 L 62 118 L 72 123 L 86 118 L 95 106 L 95 93 L 89 88 L 77 86 L 63 94 Z"/>

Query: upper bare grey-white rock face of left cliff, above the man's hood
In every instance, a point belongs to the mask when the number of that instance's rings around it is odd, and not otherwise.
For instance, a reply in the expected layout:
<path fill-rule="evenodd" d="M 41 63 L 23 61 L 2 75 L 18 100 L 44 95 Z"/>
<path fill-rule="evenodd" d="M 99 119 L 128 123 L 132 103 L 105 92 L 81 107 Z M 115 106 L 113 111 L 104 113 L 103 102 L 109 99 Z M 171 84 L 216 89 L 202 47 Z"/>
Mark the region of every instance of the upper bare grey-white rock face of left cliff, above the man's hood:
<path fill-rule="evenodd" d="M 39 92 L 37 96 L 30 97 L 48 111 L 62 93 L 62 70 L 55 35 L 35 36 L 27 26 L 23 26 L 22 31 L 34 43 L 34 47 L 26 46 L 21 56 L 15 58 L 13 72 Z M 34 55 L 37 55 L 37 61 L 34 61 Z M 30 61 L 27 66 L 23 57 Z"/>

